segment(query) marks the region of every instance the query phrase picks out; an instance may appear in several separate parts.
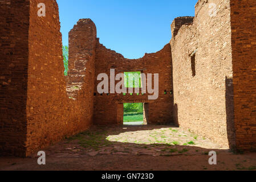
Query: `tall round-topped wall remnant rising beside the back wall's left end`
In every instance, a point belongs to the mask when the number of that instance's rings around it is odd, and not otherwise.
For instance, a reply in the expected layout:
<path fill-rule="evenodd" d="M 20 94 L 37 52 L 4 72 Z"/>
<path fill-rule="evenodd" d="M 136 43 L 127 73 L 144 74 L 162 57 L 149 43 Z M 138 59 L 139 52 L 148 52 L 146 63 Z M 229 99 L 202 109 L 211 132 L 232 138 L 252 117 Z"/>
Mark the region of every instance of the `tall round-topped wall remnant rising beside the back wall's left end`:
<path fill-rule="evenodd" d="M 80 19 L 69 33 L 69 55 L 68 55 L 68 87 L 70 97 L 84 87 L 85 92 L 93 96 L 94 92 L 94 70 L 95 70 L 95 47 L 96 47 L 96 26 L 91 19 Z M 74 89 L 77 88 L 77 89 Z M 87 104 L 93 105 L 93 97 L 90 97 Z"/>

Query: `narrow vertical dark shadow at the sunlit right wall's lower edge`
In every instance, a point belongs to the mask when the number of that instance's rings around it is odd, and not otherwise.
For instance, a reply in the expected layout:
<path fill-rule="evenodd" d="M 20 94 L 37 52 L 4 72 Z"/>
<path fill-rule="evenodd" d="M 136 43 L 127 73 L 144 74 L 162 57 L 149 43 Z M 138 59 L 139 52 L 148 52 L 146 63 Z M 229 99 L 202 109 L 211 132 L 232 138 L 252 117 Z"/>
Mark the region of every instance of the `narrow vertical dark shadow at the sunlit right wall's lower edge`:
<path fill-rule="evenodd" d="M 229 148 L 236 150 L 235 147 L 235 128 L 234 128 L 234 88 L 233 79 L 226 77 L 226 122 L 227 122 L 227 139 Z"/>

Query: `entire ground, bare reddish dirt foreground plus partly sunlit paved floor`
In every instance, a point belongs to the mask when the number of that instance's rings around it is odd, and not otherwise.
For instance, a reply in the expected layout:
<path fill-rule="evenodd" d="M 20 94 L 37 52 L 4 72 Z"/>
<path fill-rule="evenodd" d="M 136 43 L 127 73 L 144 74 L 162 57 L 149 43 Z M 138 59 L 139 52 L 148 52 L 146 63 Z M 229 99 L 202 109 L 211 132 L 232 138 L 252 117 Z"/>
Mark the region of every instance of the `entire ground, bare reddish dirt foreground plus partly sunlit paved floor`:
<path fill-rule="evenodd" d="M 233 154 L 174 126 L 94 126 L 44 151 L 46 165 L 38 165 L 37 154 L 0 157 L 0 170 L 256 170 L 256 153 Z M 209 164 L 210 151 L 217 152 L 217 165 Z"/>

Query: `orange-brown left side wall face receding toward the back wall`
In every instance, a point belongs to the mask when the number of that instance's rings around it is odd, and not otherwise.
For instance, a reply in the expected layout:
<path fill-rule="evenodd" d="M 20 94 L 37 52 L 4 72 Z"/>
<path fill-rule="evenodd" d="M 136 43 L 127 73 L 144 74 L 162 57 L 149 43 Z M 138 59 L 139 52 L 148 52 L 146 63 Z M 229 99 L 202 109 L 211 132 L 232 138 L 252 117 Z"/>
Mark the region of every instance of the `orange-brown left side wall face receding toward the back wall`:
<path fill-rule="evenodd" d="M 46 17 L 37 16 L 39 2 L 46 3 Z M 78 32 L 77 39 L 71 40 L 71 50 L 73 46 L 76 46 L 76 40 L 81 41 L 80 38 Z M 84 44 L 91 44 L 91 42 L 84 42 Z M 76 57 L 72 52 L 70 56 L 71 62 L 87 57 L 87 55 L 76 55 L 78 56 Z M 90 62 L 90 65 L 93 64 Z M 93 70 L 94 67 L 91 68 L 91 71 Z M 73 81 L 71 71 L 68 74 L 68 84 Z M 91 79 L 94 80 L 93 77 Z M 84 81 L 80 86 L 94 88 L 91 84 L 92 82 Z M 64 136 L 86 130 L 91 125 L 93 112 L 91 91 L 84 89 L 76 92 L 74 98 L 67 96 L 62 35 L 56 1 L 30 2 L 29 81 L 27 85 L 27 155 Z M 90 101 L 92 103 L 88 104 Z"/>

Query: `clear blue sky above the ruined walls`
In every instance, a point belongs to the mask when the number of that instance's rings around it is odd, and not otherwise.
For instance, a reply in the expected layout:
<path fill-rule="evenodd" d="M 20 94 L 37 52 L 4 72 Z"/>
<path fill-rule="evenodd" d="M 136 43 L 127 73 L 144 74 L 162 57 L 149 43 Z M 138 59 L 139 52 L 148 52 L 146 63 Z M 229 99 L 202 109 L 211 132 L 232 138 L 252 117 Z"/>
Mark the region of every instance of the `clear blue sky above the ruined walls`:
<path fill-rule="evenodd" d="M 129 59 L 157 52 L 171 38 L 177 16 L 194 16 L 197 0 L 57 0 L 63 45 L 82 18 L 91 18 L 105 47 Z"/>

